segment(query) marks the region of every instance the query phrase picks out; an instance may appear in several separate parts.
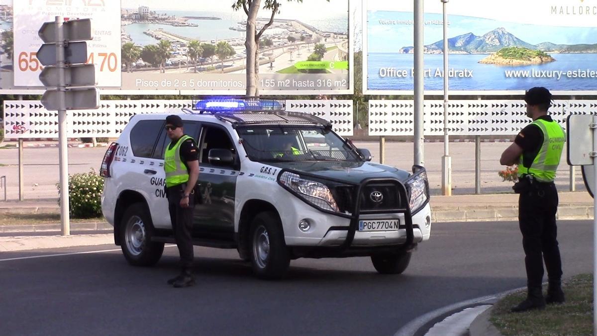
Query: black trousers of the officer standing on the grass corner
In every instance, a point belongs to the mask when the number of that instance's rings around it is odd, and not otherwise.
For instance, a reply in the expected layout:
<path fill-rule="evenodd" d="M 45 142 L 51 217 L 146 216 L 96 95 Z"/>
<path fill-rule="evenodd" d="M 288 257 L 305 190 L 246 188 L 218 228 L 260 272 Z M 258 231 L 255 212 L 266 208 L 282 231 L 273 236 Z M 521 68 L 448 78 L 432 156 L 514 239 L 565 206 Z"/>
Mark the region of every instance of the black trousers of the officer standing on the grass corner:
<path fill-rule="evenodd" d="M 543 261 L 550 282 L 562 278 L 562 261 L 558 247 L 558 191 L 553 183 L 537 184 L 520 194 L 518 222 L 525 252 L 527 285 L 537 288 L 543 282 Z"/>

